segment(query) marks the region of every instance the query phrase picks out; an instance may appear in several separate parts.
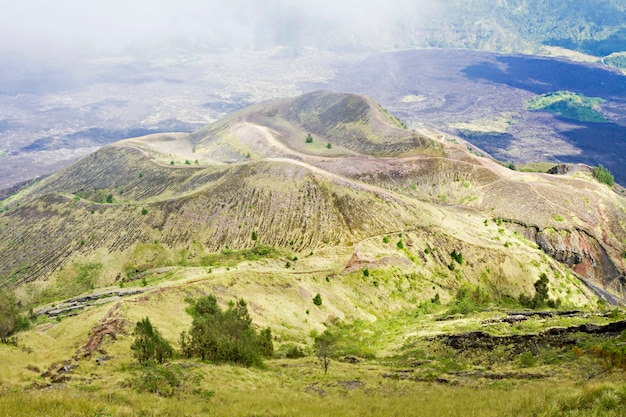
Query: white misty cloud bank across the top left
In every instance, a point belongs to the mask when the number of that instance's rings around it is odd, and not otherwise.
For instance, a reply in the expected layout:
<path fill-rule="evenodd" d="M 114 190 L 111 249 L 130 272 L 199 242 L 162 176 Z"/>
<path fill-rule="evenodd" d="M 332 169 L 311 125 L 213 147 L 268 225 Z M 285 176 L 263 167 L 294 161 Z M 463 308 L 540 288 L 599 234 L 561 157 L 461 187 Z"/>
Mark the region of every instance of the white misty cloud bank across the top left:
<path fill-rule="evenodd" d="M 0 48 L 119 49 L 172 38 L 237 44 L 386 36 L 432 0 L 0 0 Z M 350 39 L 350 38 L 355 39 Z"/>

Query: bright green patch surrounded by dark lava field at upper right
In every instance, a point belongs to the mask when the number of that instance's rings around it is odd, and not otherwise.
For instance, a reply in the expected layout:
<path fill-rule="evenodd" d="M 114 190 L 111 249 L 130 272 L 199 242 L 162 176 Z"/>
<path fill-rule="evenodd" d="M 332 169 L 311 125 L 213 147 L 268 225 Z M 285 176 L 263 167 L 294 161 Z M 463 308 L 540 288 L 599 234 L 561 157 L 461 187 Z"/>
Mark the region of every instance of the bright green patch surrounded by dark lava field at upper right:
<path fill-rule="evenodd" d="M 557 91 L 531 98 L 526 103 L 526 108 L 530 111 L 549 111 L 580 122 L 611 123 L 599 112 L 600 104 L 605 102 L 601 98 Z"/>

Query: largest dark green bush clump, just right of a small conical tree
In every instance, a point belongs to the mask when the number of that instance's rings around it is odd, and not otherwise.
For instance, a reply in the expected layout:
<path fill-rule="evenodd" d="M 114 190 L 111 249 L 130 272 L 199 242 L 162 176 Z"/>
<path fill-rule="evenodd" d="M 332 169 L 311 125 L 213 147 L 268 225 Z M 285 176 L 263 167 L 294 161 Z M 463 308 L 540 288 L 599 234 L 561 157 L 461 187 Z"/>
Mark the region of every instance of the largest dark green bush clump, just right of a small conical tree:
<path fill-rule="evenodd" d="M 274 352 L 269 328 L 260 334 L 252 327 L 244 300 L 231 302 L 226 311 L 213 295 L 191 301 L 188 312 L 193 317 L 191 329 L 181 334 L 183 356 L 198 357 L 214 363 L 261 365 L 262 356 Z"/>

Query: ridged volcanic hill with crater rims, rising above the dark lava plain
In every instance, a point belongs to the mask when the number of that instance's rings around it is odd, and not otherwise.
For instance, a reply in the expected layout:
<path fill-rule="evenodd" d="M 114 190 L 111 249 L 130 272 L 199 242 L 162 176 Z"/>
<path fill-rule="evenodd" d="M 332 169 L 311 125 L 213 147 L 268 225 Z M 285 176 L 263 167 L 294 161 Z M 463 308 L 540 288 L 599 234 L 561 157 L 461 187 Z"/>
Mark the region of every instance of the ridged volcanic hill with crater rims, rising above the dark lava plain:
<path fill-rule="evenodd" d="M 0 277 L 32 300 L 259 259 L 304 274 L 379 269 L 409 284 L 399 305 L 467 285 L 517 297 L 541 272 L 555 298 L 588 302 L 568 268 L 624 291 L 622 197 L 584 169 L 510 171 L 359 95 L 315 92 L 191 135 L 122 141 L 2 210 Z"/>

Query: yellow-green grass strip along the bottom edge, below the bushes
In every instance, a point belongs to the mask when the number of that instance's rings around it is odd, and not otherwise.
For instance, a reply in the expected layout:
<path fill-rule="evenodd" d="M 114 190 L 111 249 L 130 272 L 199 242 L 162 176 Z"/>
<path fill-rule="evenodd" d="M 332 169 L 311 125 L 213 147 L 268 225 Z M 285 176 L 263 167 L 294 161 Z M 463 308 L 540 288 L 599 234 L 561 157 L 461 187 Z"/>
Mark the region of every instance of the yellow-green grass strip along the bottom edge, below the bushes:
<path fill-rule="evenodd" d="M 180 397 L 98 381 L 8 390 L 3 416 L 621 416 L 626 388 L 615 382 L 495 382 L 443 386 L 381 378 L 370 364 L 333 363 L 327 376 L 310 359 L 267 368 L 198 365 L 200 390 Z M 200 387 L 198 387 L 200 388 Z"/>

